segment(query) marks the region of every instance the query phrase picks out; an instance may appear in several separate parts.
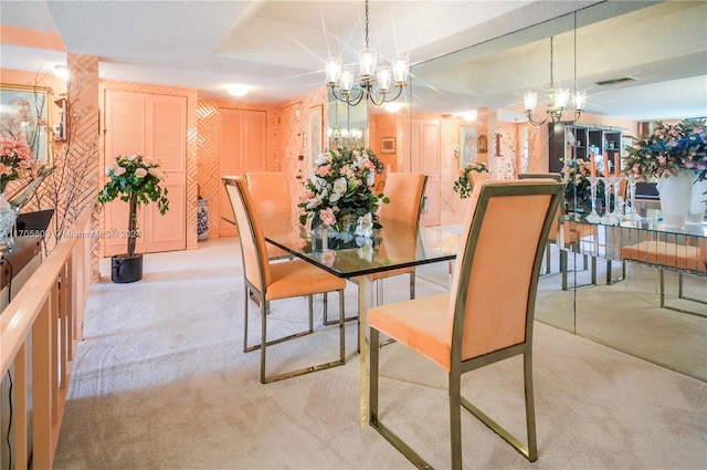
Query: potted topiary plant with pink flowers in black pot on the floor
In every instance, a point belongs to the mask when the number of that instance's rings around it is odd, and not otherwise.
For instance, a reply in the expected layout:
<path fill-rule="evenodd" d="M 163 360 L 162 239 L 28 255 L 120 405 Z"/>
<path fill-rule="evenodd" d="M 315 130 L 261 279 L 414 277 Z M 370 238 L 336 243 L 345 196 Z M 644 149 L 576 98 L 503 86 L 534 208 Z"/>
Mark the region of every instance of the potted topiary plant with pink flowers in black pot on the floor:
<path fill-rule="evenodd" d="M 143 254 L 135 254 L 135 243 L 140 236 L 137 228 L 137 207 L 151 201 L 157 202 L 160 215 L 167 212 L 167 189 L 159 186 L 165 179 L 165 173 L 159 169 L 158 163 L 133 154 L 118 155 L 115 164 L 106 167 L 106 175 L 109 179 L 98 194 L 98 202 L 105 205 L 119 197 L 129 203 L 127 252 L 113 257 L 110 280 L 116 283 L 139 281 L 143 279 Z"/>

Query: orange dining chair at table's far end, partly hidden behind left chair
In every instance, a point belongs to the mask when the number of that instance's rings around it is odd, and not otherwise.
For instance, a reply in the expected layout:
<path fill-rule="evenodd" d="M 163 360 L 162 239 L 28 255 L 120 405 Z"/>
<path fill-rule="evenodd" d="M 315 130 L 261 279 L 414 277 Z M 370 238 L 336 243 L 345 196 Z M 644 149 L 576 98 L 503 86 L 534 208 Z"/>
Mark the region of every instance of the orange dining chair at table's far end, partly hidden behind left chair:
<path fill-rule="evenodd" d="M 245 174 L 247 189 L 253 197 L 255 212 L 291 219 L 295 207 L 289 195 L 289 177 L 284 171 L 250 171 Z M 267 244 L 267 257 L 292 258 L 285 250 Z"/>

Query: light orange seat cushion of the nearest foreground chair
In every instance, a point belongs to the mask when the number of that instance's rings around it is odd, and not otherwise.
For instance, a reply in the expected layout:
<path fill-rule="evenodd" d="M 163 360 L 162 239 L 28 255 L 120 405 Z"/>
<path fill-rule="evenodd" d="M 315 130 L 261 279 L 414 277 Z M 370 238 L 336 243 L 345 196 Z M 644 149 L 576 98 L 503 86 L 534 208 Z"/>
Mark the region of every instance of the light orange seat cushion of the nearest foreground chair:
<path fill-rule="evenodd" d="M 368 324 L 449 372 L 452 359 L 449 309 L 449 293 L 397 302 L 369 310 Z"/>

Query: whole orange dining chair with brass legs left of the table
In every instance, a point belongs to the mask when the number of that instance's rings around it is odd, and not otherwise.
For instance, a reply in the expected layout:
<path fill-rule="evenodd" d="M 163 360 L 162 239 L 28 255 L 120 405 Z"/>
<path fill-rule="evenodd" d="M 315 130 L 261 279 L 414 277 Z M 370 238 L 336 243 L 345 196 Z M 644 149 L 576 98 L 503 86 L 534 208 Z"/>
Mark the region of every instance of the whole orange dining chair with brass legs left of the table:
<path fill-rule="evenodd" d="M 260 217 L 255 212 L 255 205 L 245 180 L 241 177 L 223 177 L 223 184 L 231 200 L 236 227 L 239 229 L 245 292 L 251 292 L 258 300 L 261 307 L 261 344 L 260 346 L 249 347 L 249 295 L 244 295 L 245 321 L 243 344 L 245 351 L 261 349 L 261 383 L 266 384 L 268 382 L 281 380 L 342 365 L 345 363 L 344 290 L 346 288 L 346 281 L 305 261 L 271 262 L 267 259 L 266 242 Z M 333 291 L 339 293 L 339 359 L 270 377 L 266 376 L 265 361 L 267 346 L 314 333 L 313 296 L 317 293 Z M 276 300 L 303 295 L 306 295 L 309 301 L 309 328 L 289 336 L 267 341 L 270 303 Z"/>

